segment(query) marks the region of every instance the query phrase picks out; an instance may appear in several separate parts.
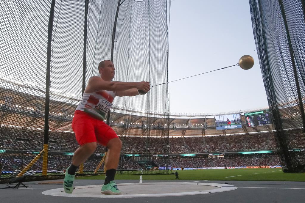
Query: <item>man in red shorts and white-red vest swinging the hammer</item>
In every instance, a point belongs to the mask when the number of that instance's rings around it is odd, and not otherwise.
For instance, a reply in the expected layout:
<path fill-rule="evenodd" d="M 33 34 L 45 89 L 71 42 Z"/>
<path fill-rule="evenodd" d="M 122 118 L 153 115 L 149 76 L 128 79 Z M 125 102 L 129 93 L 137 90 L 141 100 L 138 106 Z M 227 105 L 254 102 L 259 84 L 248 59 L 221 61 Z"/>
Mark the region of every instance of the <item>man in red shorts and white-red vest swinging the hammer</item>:
<path fill-rule="evenodd" d="M 112 82 L 114 77 L 112 61 L 99 63 L 99 76 L 89 79 L 83 98 L 77 106 L 72 121 L 72 129 L 81 145 L 72 157 L 72 164 L 66 169 L 63 188 L 72 193 L 76 170 L 95 151 L 97 143 L 107 146 L 105 161 L 106 178 L 102 194 L 122 194 L 114 181 L 119 163 L 122 142 L 114 130 L 104 123 L 105 116 L 112 106 L 115 96 L 135 96 L 138 90 L 148 92 L 149 82 Z"/>

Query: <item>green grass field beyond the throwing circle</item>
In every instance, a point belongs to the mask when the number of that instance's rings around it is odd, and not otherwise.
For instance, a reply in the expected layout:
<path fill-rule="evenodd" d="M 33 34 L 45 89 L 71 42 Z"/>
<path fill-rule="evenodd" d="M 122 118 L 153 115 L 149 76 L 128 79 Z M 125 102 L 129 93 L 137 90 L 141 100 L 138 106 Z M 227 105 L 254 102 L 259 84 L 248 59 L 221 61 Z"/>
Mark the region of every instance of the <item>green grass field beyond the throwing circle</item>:
<path fill-rule="evenodd" d="M 173 171 L 175 172 L 175 171 Z M 267 180 L 305 181 L 305 173 L 283 173 L 275 169 L 212 169 L 178 170 L 180 180 Z M 142 175 L 142 180 L 175 180 L 175 175 Z M 77 179 L 105 179 L 104 175 L 77 177 Z M 117 174 L 116 180 L 139 180 L 140 175 Z"/>

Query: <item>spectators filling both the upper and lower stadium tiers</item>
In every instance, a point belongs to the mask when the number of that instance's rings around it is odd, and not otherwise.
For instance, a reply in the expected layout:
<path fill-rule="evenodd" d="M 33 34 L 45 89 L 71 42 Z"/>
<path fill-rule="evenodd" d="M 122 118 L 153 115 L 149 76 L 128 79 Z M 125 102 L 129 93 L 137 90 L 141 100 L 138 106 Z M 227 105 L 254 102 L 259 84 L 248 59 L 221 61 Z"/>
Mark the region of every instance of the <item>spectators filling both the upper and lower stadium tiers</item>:
<path fill-rule="evenodd" d="M 23 153 L 1 153 L 0 162 L 4 170 L 20 170 L 26 166 L 43 149 L 44 131 L 30 128 L 0 127 L 0 149 L 23 150 Z M 251 150 L 276 149 L 272 133 L 257 133 L 250 135 L 205 136 L 205 137 L 179 137 L 179 138 L 153 138 L 120 136 L 124 154 L 179 154 L 179 153 L 206 153 L 206 152 L 235 152 Z M 293 135 L 296 142 L 303 141 L 296 133 Z M 292 142 L 292 146 L 297 146 Z M 79 147 L 74 133 L 55 132 L 49 133 L 49 152 L 74 152 Z M 97 153 L 104 153 L 105 148 L 98 145 Z M 84 163 L 84 170 L 95 170 L 101 156 L 92 156 Z M 163 159 L 152 160 L 156 166 L 167 165 Z M 71 163 L 71 156 L 48 155 L 48 170 L 63 170 Z M 224 166 L 270 166 L 280 165 L 277 155 L 267 156 L 225 156 L 224 158 L 175 158 L 172 159 L 173 167 L 224 167 Z M 42 158 L 31 167 L 32 170 L 42 170 Z M 132 170 L 143 168 L 143 165 L 132 159 L 121 159 L 119 170 Z"/>

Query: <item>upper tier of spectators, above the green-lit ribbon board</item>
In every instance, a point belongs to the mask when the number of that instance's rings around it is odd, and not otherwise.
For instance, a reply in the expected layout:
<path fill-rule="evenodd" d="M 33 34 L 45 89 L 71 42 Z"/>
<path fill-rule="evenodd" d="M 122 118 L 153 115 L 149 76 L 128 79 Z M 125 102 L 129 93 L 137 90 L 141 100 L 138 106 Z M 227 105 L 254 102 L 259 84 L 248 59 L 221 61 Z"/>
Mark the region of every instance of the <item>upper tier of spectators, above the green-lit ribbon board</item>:
<path fill-rule="evenodd" d="M 296 140 L 300 137 L 294 135 Z M 28 128 L 0 128 L 0 148 L 41 151 L 44 141 L 44 131 Z M 236 152 L 276 149 L 272 133 L 229 136 L 153 138 L 120 136 L 122 153 L 208 153 Z M 294 142 L 293 142 L 294 143 Z M 294 145 L 292 143 L 292 145 Z M 79 147 L 74 133 L 49 132 L 49 151 L 74 152 Z M 96 152 L 104 152 L 104 147 L 98 145 Z"/>

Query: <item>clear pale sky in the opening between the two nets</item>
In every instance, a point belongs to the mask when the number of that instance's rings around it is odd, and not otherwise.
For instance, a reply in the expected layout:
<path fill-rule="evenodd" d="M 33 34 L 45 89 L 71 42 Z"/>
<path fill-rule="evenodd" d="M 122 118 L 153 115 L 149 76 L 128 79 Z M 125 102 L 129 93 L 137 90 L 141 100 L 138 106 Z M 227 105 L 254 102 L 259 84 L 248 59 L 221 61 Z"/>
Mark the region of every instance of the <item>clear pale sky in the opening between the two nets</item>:
<path fill-rule="evenodd" d="M 219 113 L 268 107 L 247 0 L 173 0 L 170 12 L 169 80 L 238 63 L 239 66 L 169 83 L 170 112 Z"/>

